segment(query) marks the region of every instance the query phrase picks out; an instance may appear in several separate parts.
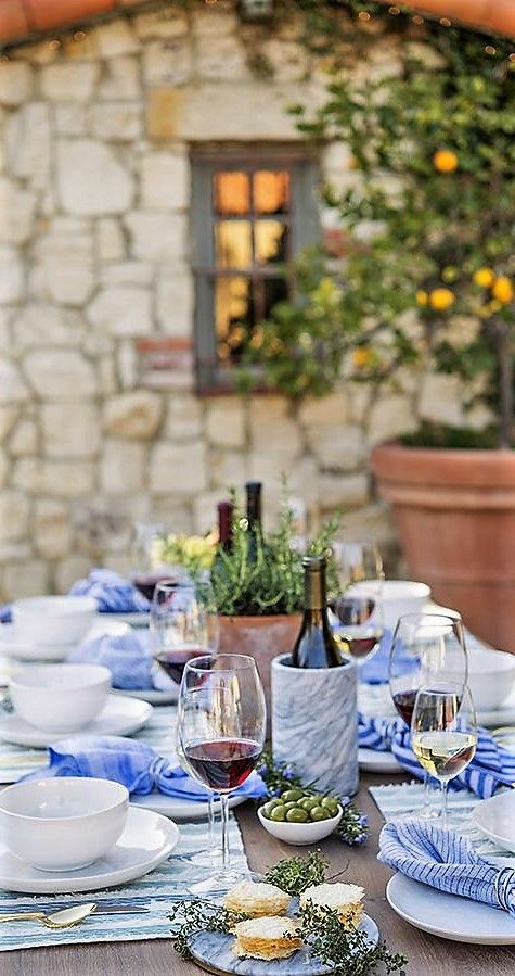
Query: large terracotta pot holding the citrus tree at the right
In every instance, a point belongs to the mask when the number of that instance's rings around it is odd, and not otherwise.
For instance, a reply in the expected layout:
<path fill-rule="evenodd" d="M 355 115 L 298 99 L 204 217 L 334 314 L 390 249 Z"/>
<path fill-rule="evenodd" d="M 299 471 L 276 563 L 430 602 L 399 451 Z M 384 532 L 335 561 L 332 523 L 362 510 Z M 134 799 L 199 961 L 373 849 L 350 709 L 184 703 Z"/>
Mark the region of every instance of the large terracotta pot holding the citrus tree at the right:
<path fill-rule="evenodd" d="M 410 575 L 473 633 L 515 652 L 515 452 L 383 444 L 371 462 Z"/>

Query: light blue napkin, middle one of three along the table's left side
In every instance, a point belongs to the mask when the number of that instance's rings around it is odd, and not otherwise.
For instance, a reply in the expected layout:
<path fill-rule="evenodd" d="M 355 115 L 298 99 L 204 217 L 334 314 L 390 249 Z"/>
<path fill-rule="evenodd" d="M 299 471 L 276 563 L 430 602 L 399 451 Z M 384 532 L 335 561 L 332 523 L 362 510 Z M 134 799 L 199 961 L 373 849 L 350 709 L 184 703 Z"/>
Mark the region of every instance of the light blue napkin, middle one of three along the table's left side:
<path fill-rule="evenodd" d="M 149 634 L 102 634 L 74 648 L 68 661 L 75 664 L 103 664 L 113 675 L 113 687 L 127 692 L 150 688 L 166 692 L 177 687 L 155 663 L 150 642 Z"/>

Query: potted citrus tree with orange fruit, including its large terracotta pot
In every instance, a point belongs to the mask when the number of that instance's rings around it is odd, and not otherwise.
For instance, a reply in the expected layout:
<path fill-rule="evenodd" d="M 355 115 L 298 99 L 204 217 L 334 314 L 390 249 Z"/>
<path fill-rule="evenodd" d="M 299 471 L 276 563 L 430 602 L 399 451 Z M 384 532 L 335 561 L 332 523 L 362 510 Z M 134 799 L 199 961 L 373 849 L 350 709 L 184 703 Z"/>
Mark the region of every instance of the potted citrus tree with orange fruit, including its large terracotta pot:
<path fill-rule="evenodd" d="M 344 377 L 411 390 L 415 414 L 422 386 L 432 407 L 453 388 L 448 426 L 375 447 L 372 469 L 412 576 L 515 651 L 513 45 L 364 7 L 347 65 L 325 11 L 340 61 L 316 116 L 294 110 L 305 135 L 348 150 L 344 186 L 324 188 L 332 253 L 301 256 L 301 301 L 275 306 L 255 355 L 293 396 Z M 352 81 L 385 46 L 392 66 Z"/>

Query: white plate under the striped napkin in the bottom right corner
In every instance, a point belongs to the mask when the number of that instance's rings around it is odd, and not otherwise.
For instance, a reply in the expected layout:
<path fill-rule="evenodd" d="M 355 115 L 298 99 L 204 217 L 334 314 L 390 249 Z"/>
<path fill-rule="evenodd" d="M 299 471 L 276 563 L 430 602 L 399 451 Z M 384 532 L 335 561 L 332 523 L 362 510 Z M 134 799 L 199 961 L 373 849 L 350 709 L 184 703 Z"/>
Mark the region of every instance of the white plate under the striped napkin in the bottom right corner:
<path fill-rule="evenodd" d="M 403 874 L 390 878 L 386 897 L 401 918 L 433 936 L 477 946 L 515 945 L 515 918 L 501 909 L 447 895 Z"/>

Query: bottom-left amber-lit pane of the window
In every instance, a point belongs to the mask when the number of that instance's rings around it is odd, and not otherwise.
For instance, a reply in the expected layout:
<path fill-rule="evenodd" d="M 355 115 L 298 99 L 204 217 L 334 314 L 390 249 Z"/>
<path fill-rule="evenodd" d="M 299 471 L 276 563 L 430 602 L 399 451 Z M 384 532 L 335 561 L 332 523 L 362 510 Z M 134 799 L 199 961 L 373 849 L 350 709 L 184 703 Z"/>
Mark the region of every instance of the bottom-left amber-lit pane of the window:
<path fill-rule="evenodd" d="M 215 304 L 219 357 L 222 363 L 237 362 L 254 328 L 252 282 L 247 278 L 219 278 Z"/>

